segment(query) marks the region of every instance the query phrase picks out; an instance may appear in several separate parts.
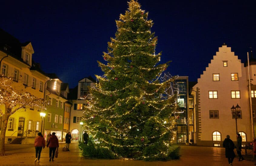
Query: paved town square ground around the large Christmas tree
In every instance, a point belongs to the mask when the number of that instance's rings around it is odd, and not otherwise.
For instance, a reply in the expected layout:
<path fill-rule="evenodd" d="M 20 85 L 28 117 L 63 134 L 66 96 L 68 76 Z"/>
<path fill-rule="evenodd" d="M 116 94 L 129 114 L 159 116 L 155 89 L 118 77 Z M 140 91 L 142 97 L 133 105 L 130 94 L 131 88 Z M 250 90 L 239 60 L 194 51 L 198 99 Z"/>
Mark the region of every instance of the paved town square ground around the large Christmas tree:
<path fill-rule="evenodd" d="M 65 143 L 60 143 L 60 150 Z M 40 162 L 34 162 L 35 148 L 33 145 L 5 145 L 5 156 L 0 156 L 0 165 L 88 165 L 88 166 L 169 166 L 169 165 L 227 165 L 228 161 L 225 158 L 224 148 L 214 147 L 199 147 L 199 146 L 181 146 L 181 159 L 171 161 L 133 161 L 133 160 L 106 160 L 106 159 L 87 159 L 81 155 L 81 150 L 78 148 L 78 142 L 71 142 L 70 152 L 59 151 L 58 158 L 53 162 L 49 162 L 49 148 L 42 150 Z M 248 151 L 248 153 L 251 151 Z M 244 155 L 244 150 L 242 152 Z M 234 159 L 233 165 L 254 165 L 256 161 L 252 160 L 251 153 L 244 157 L 246 160 L 238 162 L 238 158 Z"/>

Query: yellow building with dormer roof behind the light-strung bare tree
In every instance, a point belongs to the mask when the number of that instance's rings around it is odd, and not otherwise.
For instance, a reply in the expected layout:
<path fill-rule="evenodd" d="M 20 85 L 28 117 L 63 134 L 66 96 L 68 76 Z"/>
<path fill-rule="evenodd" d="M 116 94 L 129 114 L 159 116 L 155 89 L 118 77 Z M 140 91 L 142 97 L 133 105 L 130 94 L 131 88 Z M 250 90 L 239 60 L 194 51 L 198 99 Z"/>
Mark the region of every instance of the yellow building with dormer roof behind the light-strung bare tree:
<path fill-rule="evenodd" d="M 49 80 L 33 62 L 34 49 L 31 42 L 20 43 L 18 39 L 0 29 L 0 74 L 12 77 L 12 87 L 17 91 L 29 92 L 38 98 L 44 98 L 45 83 Z M 5 107 L 0 105 L 4 112 Z M 9 117 L 5 143 L 33 143 L 41 131 L 42 119 L 35 107 L 26 107 Z M 0 129 L 2 117 L 0 117 Z M 0 131 L 1 132 L 1 131 Z"/>

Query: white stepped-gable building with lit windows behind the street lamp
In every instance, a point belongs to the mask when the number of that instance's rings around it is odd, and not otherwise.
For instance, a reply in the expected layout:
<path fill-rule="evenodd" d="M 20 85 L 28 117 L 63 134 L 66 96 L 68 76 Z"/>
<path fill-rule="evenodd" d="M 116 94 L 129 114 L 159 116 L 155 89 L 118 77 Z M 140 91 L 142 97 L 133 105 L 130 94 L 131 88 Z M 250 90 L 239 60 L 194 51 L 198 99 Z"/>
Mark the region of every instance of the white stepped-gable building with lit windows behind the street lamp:
<path fill-rule="evenodd" d="M 252 129 L 248 93 L 248 68 L 222 45 L 194 85 L 197 145 L 222 146 L 227 135 L 236 141 L 236 122 L 231 107 L 238 104 L 237 128 L 243 143 L 251 142 Z"/>

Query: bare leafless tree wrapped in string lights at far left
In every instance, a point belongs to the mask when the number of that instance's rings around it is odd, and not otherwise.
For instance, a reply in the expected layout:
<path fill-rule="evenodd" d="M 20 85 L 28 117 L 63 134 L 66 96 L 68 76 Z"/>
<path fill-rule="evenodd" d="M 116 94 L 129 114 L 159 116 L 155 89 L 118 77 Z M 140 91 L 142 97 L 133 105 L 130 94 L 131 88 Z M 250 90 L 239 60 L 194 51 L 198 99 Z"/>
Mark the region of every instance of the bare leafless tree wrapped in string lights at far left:
<path fill-rule="evenodd" d="M 36 106 L 45 110 L 45 101 L 42 98 L 39 99 L 22 90 L 15 90 L 12 85 L 17 85 L 17 82 L 13 81 L 11 77 L 0 75 L 0 105 L 5 106 L 5 110 L 0 109 L 3 121 L 0 134 L 0 155 L 5 155 L 5 132 L 9 117 L 17 110 L 25 107 Z"/>

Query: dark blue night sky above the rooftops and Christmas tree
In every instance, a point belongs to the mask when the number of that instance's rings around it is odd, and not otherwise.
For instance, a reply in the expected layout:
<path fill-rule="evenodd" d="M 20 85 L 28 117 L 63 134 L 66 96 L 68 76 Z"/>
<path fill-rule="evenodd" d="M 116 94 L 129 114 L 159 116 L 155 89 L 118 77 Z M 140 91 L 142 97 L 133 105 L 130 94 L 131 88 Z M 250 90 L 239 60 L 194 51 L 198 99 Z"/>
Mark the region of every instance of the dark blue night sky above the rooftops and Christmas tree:
<path fill-rule="evenodd" d="M 242 62 L 249 46 L 256 48 L 253 1 L 138 2 L 154 22 L 161 62 L 172 60 L 172 75 L 197 81 L 224 42 Z M 126 0 L 3 1 L 0 27 L 21 42 L 31 41 L 42 70 L 73 88 L 81 78 L 103 74 L 97 60 L 105 62 L 102 52 L 115 37 L 115 20 L 127 8 Z"/>

